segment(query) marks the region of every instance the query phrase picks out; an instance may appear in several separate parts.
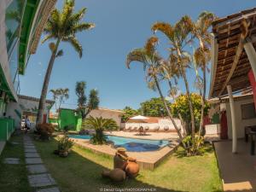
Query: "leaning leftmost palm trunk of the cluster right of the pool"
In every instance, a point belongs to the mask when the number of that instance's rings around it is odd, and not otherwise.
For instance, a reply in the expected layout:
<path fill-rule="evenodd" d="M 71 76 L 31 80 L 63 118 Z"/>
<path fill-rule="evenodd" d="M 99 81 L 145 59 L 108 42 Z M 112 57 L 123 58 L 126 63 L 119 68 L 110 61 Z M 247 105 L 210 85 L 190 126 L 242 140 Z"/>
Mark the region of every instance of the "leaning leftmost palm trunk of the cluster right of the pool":
<path fill-rule="evenodd" d="M 182 143 L 182 145 L 183 145 L 183 148 L 186 149 L 186 145 L 185 145 L 185 143 L 183 143 L 183 136 L 182 136 L 182 134 L 181 134 L 181 132 L 180 132 L 180 129 L 178 129 L 175 120 L 174 120 L 173 117 L 172 117 L 172 113 L 171 113 L 171 111 L 170 111 L 170 108 L 167 106 L 166 99 L 165 99 L 165 97 L 163 96 L 163 93 L 162 93 L 162 91 L 161 91 L 161 89 L 160 89 L 160 84 L 159 84 L 159 82 L 158 82 L 158 79 L 157 79 L 155 76 L 154 76 L 154 82 L 155 82 L 155 84 L 156 84 L 157 90 L 158 90 L 158 92 L 159 92 L 159 94 L 160 94 L 160 97 L 161 97 L 161 99 L 162 99 L 162 102 L 163 102 L 164 105 L 165 105 L 167 114 L 168 114 L 169 118 L 171 119 L 172 124 L 174 125 L 175 130 L 177 131 L 177 135 L 178 135 L 179 139 L 181 140 L 181 143 Z"/>

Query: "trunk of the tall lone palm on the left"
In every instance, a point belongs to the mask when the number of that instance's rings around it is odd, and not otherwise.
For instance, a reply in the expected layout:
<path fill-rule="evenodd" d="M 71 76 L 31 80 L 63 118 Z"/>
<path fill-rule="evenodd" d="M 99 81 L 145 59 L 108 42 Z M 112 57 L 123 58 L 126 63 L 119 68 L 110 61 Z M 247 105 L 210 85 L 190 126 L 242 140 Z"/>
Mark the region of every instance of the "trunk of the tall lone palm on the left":
<path fill-rule="evenodd" d="M 39 102 L 39 106 L 38 106 L 37 125 L 43 123 L 43 114 L 44 114 L 44 108 L 45 108 L 45 100 L 46 100 L 46 96 L 47 96 L 47 92 L 48 92 L 50 74 L 51 74 L 52 68 L 55 63 L 56 52 L 57 52 L 60 42 L 61 42 L 61 39 L 58 39 L 55 44 L 55 49 L 52 51 L 52 54 L 49 59 L 47 71 L 44 76 L 44 84 L 43 84 L 43 88 L 41 91 L 40 102 Z"/>

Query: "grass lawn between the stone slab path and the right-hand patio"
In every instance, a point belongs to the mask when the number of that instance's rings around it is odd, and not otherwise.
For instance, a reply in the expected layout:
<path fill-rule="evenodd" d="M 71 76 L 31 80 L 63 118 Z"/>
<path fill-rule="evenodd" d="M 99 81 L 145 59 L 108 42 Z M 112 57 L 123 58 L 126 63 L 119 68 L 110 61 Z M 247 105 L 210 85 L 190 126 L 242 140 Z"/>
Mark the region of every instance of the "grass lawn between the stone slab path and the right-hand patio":
<path fill-rule="evenodd" d="M 104 188 L 145 188 L 159 192 L 222 191 L 211 147 L 204 156 L 181 157 L 177 153 L 172 154 L 154 171 L 143 170 L 136 179 L 115 184 L 101 177 L 103 169 L 113 167 L 113 159 L 109 156 L 74 146 L 67 158 L 61 158 L 53 154 L 55 141 L 36 142 L 36 146 L 62 192 L 99 192 Z"/>

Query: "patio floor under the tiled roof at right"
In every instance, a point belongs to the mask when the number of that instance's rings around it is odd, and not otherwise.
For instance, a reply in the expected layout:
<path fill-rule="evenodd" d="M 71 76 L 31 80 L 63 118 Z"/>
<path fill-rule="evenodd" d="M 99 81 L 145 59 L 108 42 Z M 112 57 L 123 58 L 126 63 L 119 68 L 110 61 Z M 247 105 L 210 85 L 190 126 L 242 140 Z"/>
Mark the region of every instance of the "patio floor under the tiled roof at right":
<path fill-rule="evenodd" d="M 250 143 L 237 141 L 237 154 L 232 142 L 214 143 L 224 191 L 256 191 L 256 156 L 250 154 Z"/>

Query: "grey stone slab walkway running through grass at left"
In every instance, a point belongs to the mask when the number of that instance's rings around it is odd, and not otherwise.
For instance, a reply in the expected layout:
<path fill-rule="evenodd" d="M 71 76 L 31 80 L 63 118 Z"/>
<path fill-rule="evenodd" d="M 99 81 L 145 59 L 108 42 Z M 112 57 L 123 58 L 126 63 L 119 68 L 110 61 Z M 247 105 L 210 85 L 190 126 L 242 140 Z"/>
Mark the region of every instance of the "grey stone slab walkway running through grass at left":
<path fill-rule="evenodd" d="M 24 148 L 26 168 L 29 172 L 28 181 L 31 187 L 36 188 L 36 192 L 60 192 L 28 135 L 24 136 Z"/>

